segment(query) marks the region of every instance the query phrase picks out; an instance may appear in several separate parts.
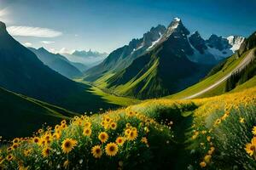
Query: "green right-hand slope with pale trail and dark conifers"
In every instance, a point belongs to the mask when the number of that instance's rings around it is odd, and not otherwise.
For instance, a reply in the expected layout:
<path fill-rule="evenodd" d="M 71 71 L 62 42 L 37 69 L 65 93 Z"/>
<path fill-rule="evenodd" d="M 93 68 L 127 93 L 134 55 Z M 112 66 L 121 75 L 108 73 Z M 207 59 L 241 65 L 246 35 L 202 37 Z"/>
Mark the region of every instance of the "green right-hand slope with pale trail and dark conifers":
<path fill-rule="evenodd" d="M 232 90 L 238 91 L 246 87 L 253 87 L 256 57 L 256 34 L 255 32 L 241 43 L 237 53 L 219 65 L 217 71 L 212 71 L 203 81 L 183 90 L 180 93 L 169 96 L 172 99 L 191 99 L 209 97 Z M 234 79 L 235 77 L 235 79 Z M 243 85 L 244 84 L 244 85 Z M 228 87 L 227 87 L 228 85 Z M 237 86 L 237 88 L 236 88 Z M 231 88 L 230 88 L 231 87 Z M 239 88 L 240 87 L 240 88 Z"/>

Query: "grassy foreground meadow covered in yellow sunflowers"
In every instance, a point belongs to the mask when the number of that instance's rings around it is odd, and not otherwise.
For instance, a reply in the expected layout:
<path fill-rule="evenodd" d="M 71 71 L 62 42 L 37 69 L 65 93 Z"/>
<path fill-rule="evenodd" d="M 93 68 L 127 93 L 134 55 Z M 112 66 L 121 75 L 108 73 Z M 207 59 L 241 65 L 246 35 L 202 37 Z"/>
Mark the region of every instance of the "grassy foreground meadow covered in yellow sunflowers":
<path fill-rule="evenodd" d="M 250 88 L 205 99 L 151 99 L 104 114 L 75 116 L 69 123 L 44 127 L 36 136 L 18 139 L 18 146 L 10 141 L 11 148 L 3 147 L 0 152 L 1 166 L 254 169 L 256 161 L 244 148 L 253 138 L 255 103 L 256 88 Z M 136 138 L 127 129 L 133 129 Z M 101 132 L 108 133 L 107 142 L 98 139 Z M 37 137 L 40 142 L 35 142 Z M 124 137 L 125 143 L 116 147 L 118 137 Z M 73 144 L 68 153 L 62 145 L 67 139 Z M 115 143 L 113 150 L 118 148 L 111 156 L 106 149 L 110 143 Z M 102 150 L 100 158 L 91 153 L 96 145 Z"/>

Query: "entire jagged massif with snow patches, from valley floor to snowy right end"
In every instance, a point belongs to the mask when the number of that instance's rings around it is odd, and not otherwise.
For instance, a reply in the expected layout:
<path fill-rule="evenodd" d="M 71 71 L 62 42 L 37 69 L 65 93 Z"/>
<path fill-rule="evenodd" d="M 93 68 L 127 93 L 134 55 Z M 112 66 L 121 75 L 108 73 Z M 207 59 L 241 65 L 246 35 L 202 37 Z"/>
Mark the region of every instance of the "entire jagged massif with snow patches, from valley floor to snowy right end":
<path fill-rule="evenodd" d="M 153 27 L 142 38 L 114 50 L 86 71 L 84 80 L 140 99 L 173 94 L 198 82 L 243 41 L 243 37 L 216 35 L 204 40 L 198 31 L 190 34 L 182 20 L 175 18 L 167 28 Z"/>

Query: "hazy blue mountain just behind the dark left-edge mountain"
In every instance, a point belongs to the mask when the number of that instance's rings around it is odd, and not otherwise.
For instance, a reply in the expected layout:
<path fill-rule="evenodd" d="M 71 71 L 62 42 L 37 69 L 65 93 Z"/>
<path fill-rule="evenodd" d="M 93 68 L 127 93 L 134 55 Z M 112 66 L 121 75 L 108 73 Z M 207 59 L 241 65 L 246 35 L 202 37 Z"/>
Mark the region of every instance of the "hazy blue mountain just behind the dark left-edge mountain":
<path fill-rule="evenodd" d="M 49 68 L 59 72 L 61 75 L 71 79 L 82 76 L 82 72 L 61 54 L 49 53 L 49 51 L 44 48 L 29 49 L 38 56 L 38 59 L 40 59 L 44 65 L 48 65 Z"/>

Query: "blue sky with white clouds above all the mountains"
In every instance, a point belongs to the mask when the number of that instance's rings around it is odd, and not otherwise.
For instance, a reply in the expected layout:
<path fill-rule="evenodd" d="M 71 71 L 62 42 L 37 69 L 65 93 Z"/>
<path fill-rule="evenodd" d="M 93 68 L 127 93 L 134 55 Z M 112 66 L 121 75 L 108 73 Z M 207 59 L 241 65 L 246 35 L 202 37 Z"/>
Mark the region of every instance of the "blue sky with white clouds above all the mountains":
<path fill-rule="evenodd" d="M 204 38 L 247 37 L 255 8 L 256 0 L 0 0 L 0 20 L 26 46 L 110 53 L 174 17 Z"/>

